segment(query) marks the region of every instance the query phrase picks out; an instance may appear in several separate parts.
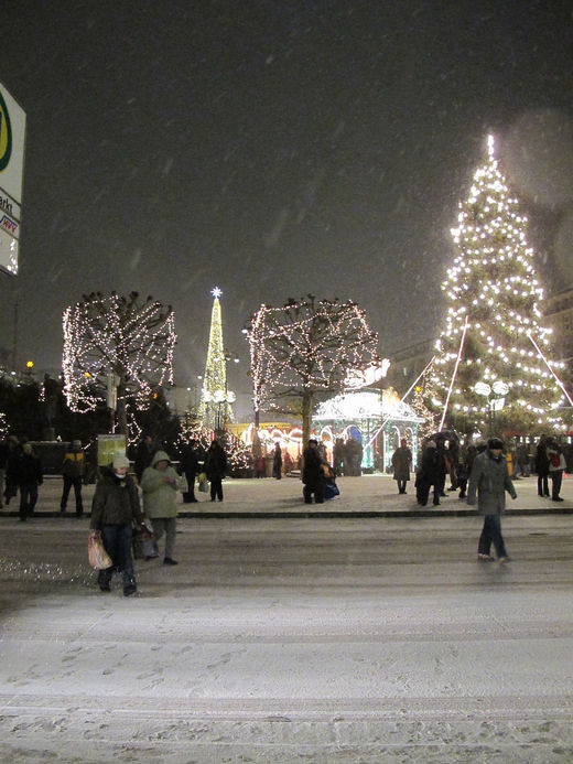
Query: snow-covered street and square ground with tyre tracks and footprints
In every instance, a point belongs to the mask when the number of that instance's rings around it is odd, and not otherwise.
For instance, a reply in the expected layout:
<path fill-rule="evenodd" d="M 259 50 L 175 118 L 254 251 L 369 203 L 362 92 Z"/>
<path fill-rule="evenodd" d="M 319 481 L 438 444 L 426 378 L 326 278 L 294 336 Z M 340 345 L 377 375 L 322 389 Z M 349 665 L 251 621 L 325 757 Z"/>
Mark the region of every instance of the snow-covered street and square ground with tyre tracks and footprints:
<path fill-rule="evenodd" d="M 409 501 L 347 480 L 346 506 Z M 245 483 L 221 506 L 299 488 Z M 87 526 L 0 518 L 2 762 L 573 761 L 566 515 L 508 516 L 508 566 L 476 562 L 475 516 L 185 517 L 130 599 Z"/>

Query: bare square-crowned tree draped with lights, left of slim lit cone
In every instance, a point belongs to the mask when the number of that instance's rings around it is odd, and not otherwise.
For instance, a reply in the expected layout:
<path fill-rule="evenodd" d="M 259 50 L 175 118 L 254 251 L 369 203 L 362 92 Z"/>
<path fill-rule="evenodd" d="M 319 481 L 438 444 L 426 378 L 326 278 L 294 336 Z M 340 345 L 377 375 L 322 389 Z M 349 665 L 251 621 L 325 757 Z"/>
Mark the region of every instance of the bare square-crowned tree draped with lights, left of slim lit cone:
<path fill-rule="evenodd" d="M 119 432 L 127 434 L 127 407 L 147 409 L 154 389 L 173 384 L 175 319 L 152 297 L 140 299 L 111 292 L 83 295 L 66 308 L 64 327 L 64 392 L 73 411 L 89 411 L 106 394 L 117 395 Z M 115 408 L 115 406 L 112 407 Z"/>

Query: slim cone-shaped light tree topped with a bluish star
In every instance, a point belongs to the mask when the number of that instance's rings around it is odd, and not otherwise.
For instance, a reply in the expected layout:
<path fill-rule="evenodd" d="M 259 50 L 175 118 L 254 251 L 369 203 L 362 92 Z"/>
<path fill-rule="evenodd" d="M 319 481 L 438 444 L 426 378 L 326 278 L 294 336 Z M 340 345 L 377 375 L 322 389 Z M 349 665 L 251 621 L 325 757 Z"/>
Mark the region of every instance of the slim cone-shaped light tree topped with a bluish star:
<path fill-rule="evenodd" d="M 227 357 L 223 345 L 223 320 L 219 297 L 223 294 L 218 287 L 212 289 L 213 310 L 210 312 L 209 344 L 198 416 L 203 424 L 212 429 L 220 429 L 221 424 L 233 421 L 233 402 L 235 394 L 227 389 Z"/>

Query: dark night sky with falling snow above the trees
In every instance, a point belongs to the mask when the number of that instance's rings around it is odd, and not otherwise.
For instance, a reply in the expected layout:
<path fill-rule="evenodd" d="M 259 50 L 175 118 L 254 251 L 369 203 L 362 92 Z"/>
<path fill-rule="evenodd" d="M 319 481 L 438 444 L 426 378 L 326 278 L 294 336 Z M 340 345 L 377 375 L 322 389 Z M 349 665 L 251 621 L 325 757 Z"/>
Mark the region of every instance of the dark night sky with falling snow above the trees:
<path fill-rule="evenodd" d="M 261 302 L 354 299 L 380 351 L 437 335 L 486 134 L 551 289 L 573 283 L 573 4 L 19 0 L 0 80 L 28 115 L 20 273 L 0 346 L 55 370 L 93 290 L 176 311 L 176 381 Z M 241 374 L 239 376 L 239 369 Z"/>

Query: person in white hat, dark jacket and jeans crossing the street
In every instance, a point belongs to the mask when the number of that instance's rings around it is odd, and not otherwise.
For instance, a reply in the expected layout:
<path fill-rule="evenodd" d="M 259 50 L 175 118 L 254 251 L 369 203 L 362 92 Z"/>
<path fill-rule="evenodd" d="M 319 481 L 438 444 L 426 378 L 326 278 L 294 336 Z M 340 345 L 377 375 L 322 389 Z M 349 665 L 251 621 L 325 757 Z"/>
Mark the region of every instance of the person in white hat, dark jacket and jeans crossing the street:
<path fill-rule="evenodd" d="M 133 523 L 143 526 L 143 513 L 139 503 L 136 482 L 128 475 L 129 460 L 118 453 L 113 462 L 101 469 L 91 502 L 90 528 L 101 534 L 104 548 L 111 558 L 111 568 L 100 570 L 98 584 L 102 592 L 111 590 L 113 570 L 121 571 L 123 594 L 130 596 L 138 590 L 131 558 Z"/>

